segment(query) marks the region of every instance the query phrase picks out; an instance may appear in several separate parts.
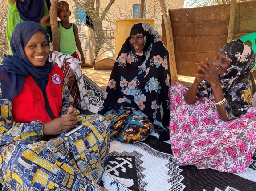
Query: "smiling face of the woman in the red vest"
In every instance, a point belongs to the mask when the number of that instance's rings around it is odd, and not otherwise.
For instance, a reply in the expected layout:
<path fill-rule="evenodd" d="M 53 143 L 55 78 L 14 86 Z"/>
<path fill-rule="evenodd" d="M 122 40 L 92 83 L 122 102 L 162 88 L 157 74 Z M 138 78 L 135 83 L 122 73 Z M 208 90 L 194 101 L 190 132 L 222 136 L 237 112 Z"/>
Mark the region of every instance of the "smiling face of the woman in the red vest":
<path fill-rule="evenodd" d="M 24 47 L 24 52 L 28 57 L 29 62 L 34 66 L 44 66 L 47 61 L 49 51 L 50 48 L 45 35 L 40 30 L 34 33 Z"/>

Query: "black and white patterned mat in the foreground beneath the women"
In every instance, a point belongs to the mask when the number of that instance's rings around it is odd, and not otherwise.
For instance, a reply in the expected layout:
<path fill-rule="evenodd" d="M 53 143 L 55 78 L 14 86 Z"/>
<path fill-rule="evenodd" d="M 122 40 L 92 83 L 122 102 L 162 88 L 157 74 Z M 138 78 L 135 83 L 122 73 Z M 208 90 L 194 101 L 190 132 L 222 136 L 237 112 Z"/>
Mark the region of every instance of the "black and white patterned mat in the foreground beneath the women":
<path fill-rule="evenodd" d="M 231 174 L 175 165 L 169 143 L 157 134 L 142 143 L 110 143 L 101 185 L 108 191 L 256 191 L 256 153 L 243 173 Z"/>

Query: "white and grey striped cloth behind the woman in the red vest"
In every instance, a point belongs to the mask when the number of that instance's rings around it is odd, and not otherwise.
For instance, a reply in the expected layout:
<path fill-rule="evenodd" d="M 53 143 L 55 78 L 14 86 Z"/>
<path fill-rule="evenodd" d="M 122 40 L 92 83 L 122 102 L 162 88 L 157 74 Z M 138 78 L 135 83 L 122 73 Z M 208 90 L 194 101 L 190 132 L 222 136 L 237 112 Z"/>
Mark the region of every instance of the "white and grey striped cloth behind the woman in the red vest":
<path fill-rule="evenodd" d="M 70 55 L 65 55 L 57 51 L 51 51 L 49 54 L 49 61 L 53 62 L 54 64 L 58 65 L 61 69 L 64 70 L 64 75 L 65 73 L 68 73 L 69 69 L 73 71 L 73 73 L 76 75 L 76 82 L 78 85 L 78 91 L 79 91 L 79 100 L 77 100 L 77 107 L 80 108 L 81 110 L 86 110 L 90 109 L 90 102 L 87 96 L 87 92 L 85 89 L 85 84 L 83 81 L 82 77 L 82 71 L 81 71 L 81 62 L 73 58 Z M 76 88 L 71 86 L 69 88 L 69 91 L 71 92 L 74 91 L 76 93 Z M 70 93 L 71 96 L 74 99 L 74 94 Z M 77 99 L 78 99 L 77 98 Z"/>

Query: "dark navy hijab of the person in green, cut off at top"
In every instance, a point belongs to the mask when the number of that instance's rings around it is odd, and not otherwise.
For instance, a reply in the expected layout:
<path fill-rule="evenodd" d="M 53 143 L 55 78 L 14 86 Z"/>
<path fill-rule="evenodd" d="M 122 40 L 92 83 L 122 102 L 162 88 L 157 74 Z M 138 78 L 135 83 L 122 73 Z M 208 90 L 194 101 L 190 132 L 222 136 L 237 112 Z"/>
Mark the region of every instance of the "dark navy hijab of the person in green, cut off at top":
<path fill-rule="evenodd" d="M 50 10 L 50 0 L 45 0 L 48 10 Z M 16 7 L 20 18 L 24 21 L 39 22 L 44 14 L 44 0 L 16 1 Z"/>

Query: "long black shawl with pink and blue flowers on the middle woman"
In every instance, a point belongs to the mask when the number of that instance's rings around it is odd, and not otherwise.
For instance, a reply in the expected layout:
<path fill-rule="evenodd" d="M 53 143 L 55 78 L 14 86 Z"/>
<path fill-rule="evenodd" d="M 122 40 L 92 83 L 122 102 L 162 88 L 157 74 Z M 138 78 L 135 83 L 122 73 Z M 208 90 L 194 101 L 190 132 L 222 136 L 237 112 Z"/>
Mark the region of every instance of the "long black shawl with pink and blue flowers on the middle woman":
<path fill-rule="evenodd" d="M 162 36 L 148 23 L 135 24 L 131 29 L 131 35 L 138 32 L 144 38 L 143 52 L 137 53 L 134 50 L 130 36 L 126 39 L 110 74 L 103 108 L 98 113 L 104 114 L 120 108 L 132 112 L 141 111 L 154 125 L 168 131 L 168 87 L 171 83 L 168 51 L 163 45 Z M 128 127 L 126 132 L 137 132 L 133 125 Z M 148 130 L 150 128 L 151 125 L 147 127 Z M 111 129 L 115 130 L 113 126 Z M 122 139 L 125 138 L 123 134 L 118 134 Z M 140 141 L 141 137 L 138 137 Z"/>

